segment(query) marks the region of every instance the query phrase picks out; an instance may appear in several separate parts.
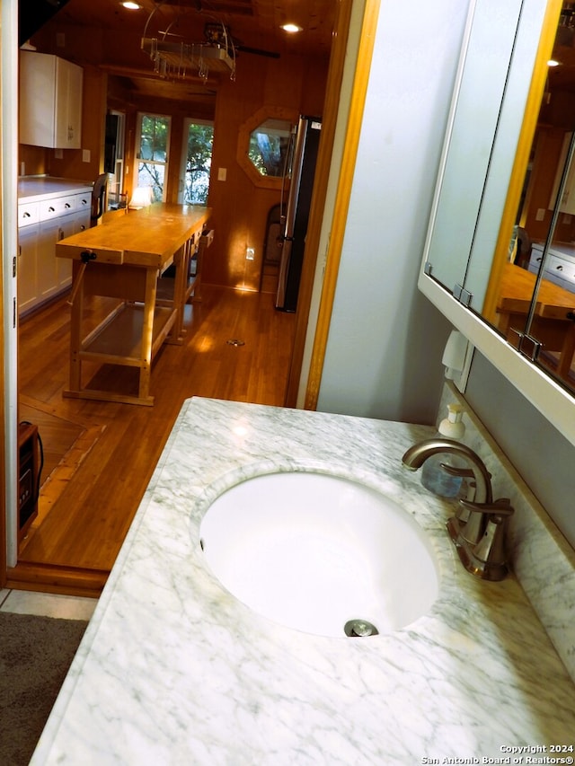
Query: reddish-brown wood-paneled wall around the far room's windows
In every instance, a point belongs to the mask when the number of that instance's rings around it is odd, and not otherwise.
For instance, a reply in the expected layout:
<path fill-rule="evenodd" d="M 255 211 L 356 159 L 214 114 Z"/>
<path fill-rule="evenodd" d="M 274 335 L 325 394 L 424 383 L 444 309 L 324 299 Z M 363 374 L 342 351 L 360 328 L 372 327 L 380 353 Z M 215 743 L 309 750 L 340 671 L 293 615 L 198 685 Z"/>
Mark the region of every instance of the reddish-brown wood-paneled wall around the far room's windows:
<path fill-rule="evenodd" d="M 264 105 L 321 116 L 329 62 L 295 56 L 273 59 L 243 54 L 238 57 L 235 81 L 223 75 L 217 84 L 212 115 L 206 103 L 193 106 L 192 101 L 150 99 L 126 90 L 119 81 L 105 74 L 105 61 L 99 62 L 102 68 L 96 66 L 95 60 L 106 55 L 106 46 L 111 45 L 111 40 L 102 41 L 88 35 L 83 44 L 83 37 L 86 31 L 66 31 L 64 50 L 54 47 L 49 31 L 33 42 L 42 52 L 69 57 L 84 66 L 82 145 L 90 150 L 90 163 L 83 162 L 82 150 L 65 150 L 63 159 L 57 160 L 52 150 L 21 146 L 20 159 L 26 163 L 26 173 L 48 172 L 64 178 L 94 180 L 102 168 L 104 115 L 107 108 L 113 108 L 127 114 L 125 190 L 129 192 L 137 111 L 168 114 L 173 124 L 167 194 L 168 201 L 176 201 L 183 119 L 213 116 L 213 173 L 208 205 L 213 211 L 209 225 L 215 229 L 216 236 L 204 267 L 204 279 L 215 285 L 259 290 L 266 219 L 270 207 L 279 202 L 279 192 L 256 187 L 237 163 L 239 128 Z M 122 50 L 125 48 L 128 48 L 126 40 Z M 141 56 L 141 51 L 138 53 Z M 141 66 L 142 62 L 139 63 Z M 217 180 L 219 168 L 226 168 L 225 181 Z M 254 260 L 246 260 L 246 247 L 254 249 Z"/>

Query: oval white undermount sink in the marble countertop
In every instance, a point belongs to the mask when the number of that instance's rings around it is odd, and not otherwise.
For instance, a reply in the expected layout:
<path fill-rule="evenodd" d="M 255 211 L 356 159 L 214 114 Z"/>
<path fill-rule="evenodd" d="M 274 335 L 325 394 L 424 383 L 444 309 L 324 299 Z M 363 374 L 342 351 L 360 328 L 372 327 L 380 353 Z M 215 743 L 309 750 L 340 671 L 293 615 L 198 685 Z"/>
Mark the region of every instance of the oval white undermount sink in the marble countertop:
<path fill-rule="evenodd" d="M 200 541 L 227 591 L 307 633 L 388 633 L 438 597 L 437 562 L 420 525 L 389 497 L 339 476 L 245 480 L 209 506 Z"/>

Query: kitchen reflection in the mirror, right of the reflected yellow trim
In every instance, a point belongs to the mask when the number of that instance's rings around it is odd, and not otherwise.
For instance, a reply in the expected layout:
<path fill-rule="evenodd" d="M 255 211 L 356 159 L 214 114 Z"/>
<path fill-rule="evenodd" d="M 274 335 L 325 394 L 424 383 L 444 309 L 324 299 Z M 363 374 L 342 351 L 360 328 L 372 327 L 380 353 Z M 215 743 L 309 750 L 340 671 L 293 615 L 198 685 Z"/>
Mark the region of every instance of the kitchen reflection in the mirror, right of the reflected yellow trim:
<path fill-rule="evenodd" d="M 491 321 L 575 392 L 575 5 L 563 4 Z M 505 233 L 501 232 L 501 251 Z"/>

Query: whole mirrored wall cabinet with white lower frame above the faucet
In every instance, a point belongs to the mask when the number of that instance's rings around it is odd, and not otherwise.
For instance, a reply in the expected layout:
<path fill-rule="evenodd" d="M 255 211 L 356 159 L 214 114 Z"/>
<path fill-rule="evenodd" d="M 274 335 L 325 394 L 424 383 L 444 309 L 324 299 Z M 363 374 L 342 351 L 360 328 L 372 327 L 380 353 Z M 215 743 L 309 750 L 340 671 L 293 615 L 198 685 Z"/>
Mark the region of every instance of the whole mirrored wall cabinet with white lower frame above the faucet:
<path fill-rule="evenodd" d="M 575 5 L 474 0 L 420 289 L 573 444 L 574 134 Z"/>

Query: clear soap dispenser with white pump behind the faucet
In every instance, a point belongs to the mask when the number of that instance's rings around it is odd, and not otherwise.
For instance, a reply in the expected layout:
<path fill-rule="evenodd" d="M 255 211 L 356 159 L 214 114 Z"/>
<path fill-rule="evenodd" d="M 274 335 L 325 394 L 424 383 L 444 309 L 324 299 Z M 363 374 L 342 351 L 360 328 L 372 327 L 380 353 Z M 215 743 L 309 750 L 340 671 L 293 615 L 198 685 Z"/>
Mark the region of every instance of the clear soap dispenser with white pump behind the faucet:
<path fill-rule="evenodd" d="M 447 418 L 439 423 L 437 438 L 460 440 L 465 433 L 463 418 L 464 408 L 461 404 L 447 405 Z M 421 468 L 421 484 L 439 497 L 461 497 L 464 494 L 464 478 L 448 473 L 443 465 L 452 468 L 465 469 L 467 463 L 450 453 L 438 453 L 423 463 Z"/>

